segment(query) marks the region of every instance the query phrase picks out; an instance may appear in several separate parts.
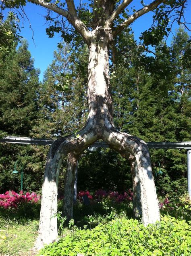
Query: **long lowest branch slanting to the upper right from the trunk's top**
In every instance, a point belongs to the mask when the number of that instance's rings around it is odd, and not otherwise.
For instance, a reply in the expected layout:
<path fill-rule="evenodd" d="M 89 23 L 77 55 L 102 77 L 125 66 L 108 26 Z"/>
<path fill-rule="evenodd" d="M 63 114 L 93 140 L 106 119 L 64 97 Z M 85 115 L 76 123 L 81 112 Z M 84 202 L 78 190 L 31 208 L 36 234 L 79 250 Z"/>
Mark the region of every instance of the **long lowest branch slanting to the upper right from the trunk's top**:
<path fill-rule="evenodd" d="M 151 10 L 154 10 L 157 6 L 159 6 L 164 0 L 155 0 L 137 12 L 133 13 L 128 19 L 126 19 L 122 24 L 115 28 L 113 31 L 113 36 L 115 37 L 120 31 L 122 31 L 125 27 L 129 26 L 133 21 L 142 16 L 145 13 L 148 13 Z"/>

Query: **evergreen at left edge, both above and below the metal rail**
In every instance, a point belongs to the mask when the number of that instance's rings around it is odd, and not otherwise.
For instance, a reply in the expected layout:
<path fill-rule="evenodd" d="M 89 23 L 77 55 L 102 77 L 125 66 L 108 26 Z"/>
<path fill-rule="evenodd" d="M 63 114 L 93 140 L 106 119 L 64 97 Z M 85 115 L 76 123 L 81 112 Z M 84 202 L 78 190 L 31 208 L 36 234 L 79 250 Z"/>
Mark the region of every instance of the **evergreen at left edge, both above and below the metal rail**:
<path fill-rule="evenodd" d="M 10 24 L 10 30 L 11 30 Z M 13 38 L 9 50 L 0 53 L 0 130 L 1 135 L 29 136 L 38 116 L 38 74 L 33 59 L 23 41 L 17 49 Z M 24 190 L 41 187 L 46 149 L 35 146 L 0 144 L 0 193 L 8 189 L 19 191 L 20 174 L 12 174 L 17 160 L 17 169 L 24 170 Z M 38 182 L 37 182 L 38 180 Z"/>

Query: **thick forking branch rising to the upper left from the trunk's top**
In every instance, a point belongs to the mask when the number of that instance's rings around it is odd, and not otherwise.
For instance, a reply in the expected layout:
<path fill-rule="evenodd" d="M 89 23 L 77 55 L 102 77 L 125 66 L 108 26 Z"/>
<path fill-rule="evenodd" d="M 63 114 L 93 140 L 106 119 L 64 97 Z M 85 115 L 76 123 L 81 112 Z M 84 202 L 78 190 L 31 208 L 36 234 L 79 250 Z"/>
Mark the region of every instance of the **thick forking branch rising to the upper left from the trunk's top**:
<path fill-rule="evenodd" d="M 76 13 L 75 5 L 73 0 L 66 0 L 67 6 L 69 11 L 66 11 L 54 4 L 50 4 L 48 2 L 45 2 L 44 0 L 29 0 L 29 2 L 32 2 L 34 4 L 39 4 L 45 8 L 48 8 L 49 10 L 54 11 L 55 13 L 58 13 L 69 21 L 71 25 L 81 34 L 85 42 L 89 44 L 89 40 L 91 37 L 91 32 L 87 29 L 85 24 L 79 19 Z"/>

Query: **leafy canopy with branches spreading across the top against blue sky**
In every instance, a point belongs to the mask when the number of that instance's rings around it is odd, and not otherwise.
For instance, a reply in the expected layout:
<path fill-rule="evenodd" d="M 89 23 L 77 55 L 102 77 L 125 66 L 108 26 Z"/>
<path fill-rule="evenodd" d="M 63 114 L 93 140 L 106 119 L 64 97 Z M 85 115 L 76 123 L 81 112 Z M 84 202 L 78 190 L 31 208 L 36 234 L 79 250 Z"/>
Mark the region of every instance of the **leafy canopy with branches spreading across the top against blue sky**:
<path fill-rule="evenodd" d="M 148 4 L 142 0 L 88 0 L 86 2 L 81 0 L 5 0 L 1 8 L 2 10 L 10 8 L 12 15 L 19 18 L 22 13 L 25 15 L 27 2 L 47 9 L 48 36 L 53 37 L 55 32 L 60 32 L 65 42 L 75 42 L 77 45 L 82 43 L 81 37 L 88 44 L 88 38 L 91 36 L 89 32 L 99 26 L 111 27 L 112 36 L 115 38 L 119 36 L 120 31 L 149 11 L 154 12 L 153 25 L 142 33 L 141 38 L 145 45 L 158 44 L 163 36 L 168 35 L 174 21 L 189 29 L 189 23 L 184 17 L 187 0 L 154 0 L 149 1 Z M 109 8 L 106 8 L 106 5 Z"/>

